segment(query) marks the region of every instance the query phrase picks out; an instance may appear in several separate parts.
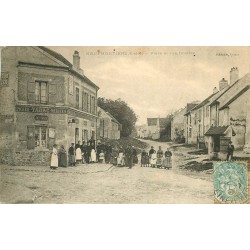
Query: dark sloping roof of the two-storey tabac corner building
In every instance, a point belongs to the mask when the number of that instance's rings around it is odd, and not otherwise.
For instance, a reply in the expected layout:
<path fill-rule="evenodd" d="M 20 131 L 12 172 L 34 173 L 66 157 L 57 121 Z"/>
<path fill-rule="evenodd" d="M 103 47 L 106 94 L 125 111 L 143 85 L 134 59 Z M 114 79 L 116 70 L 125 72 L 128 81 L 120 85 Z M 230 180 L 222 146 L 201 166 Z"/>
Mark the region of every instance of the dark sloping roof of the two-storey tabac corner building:
<path fill-rule="evenodd" d="M 93 83 L 88 77 L 86 77 L 85 75 L 77 72 L 76 70 L 73 69 L 73 65 L 72 63 L 70 63 L 63 55 L 57 53 L 56 51 L 45 47 L 45 46 L 37 46 L 39 49 L 47 52 L 48 54 L 50 54 L 51 56 L 53 56 L 54 58 L 56 58 L 57 60 L 59 60 L 60 62 L 66 64 L 69 67 L 69 70 L 76 76 L 78 76 L 79 78 L 81 78 L 83 81 L 85 81 L 86 83 L 92 85 L 93 87 L 99 89 L 99 87 Z"/>

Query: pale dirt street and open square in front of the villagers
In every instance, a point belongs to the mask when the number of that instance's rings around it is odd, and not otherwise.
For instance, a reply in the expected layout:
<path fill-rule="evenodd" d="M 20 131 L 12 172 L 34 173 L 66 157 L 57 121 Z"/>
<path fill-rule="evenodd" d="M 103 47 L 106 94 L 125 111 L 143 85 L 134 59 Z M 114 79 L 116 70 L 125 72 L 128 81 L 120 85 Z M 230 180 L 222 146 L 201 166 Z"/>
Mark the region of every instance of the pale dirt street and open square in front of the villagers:
<path fill-rule="evenodd" d="M 167 143 L 147 141 L 155 149 Z M 1 203 L 213 203 L 212 174 L 180 170 L 185 152 L 173 154 L 173 169 L 136 165 L 82 164 L 50 170 L 44 166 L 1 166 Z"/>

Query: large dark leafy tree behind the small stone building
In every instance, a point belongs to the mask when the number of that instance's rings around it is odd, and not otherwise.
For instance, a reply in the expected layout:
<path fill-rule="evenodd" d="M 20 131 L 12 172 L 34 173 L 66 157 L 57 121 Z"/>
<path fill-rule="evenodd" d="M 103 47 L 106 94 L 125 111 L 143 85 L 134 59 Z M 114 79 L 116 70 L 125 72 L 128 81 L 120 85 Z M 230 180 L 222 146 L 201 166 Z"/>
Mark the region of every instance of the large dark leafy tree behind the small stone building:
<path fill-rule="evenodd" d="M 99 97 L 98 106 L 104 109 L 106 112 L 109 112 L 119 123 L 121 123 L 122 137 L 128 137 L 131 135 L 133 129 L 135 128 L 137 115 L 125 101 L 121 100 L 120 98 L 117 100 L 111 100 L 104 97 Z"/>

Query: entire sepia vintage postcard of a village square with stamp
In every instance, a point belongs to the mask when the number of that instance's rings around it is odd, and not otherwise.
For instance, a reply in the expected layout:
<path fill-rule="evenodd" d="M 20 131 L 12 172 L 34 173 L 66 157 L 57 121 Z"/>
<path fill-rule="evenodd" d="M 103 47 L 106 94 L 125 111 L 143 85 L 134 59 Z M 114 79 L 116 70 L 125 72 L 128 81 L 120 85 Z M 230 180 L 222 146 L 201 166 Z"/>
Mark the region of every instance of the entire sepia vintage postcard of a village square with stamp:
<path fill-rule="evenodd" d="M 249 47 L 0 47 L 0 203 L 250 202 Z"/>

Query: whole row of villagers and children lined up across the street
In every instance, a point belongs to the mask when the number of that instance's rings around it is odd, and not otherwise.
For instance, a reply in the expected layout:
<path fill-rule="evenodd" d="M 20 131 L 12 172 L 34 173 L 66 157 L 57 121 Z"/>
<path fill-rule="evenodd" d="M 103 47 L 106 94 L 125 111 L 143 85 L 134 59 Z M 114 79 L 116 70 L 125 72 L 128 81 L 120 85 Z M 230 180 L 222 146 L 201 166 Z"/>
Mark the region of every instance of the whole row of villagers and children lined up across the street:
<path fill-rule="evenodd" d="M 68 152 L 64 146 L 53 145 L 51 153 L 50 168 L 56 169 L 58 167 L 74 167 L 78 164 L 89 163 L 107 163 L 114 166 L 126 166 L 131 169 L 135 164 L 138 164 L 137 150 L 134 146 L 127 146 L 118 150 L 113 149 L 110 144 L 99 142 L 95 147 L 95 142 L 90 140 L 87 143 L 84 141 L 75 145 L 71 143 Z M 172 153 L 167 149 L 165 153 L 159 147 L 158 151 L 152 146 L 149 152 L 145 150 L 141 153 L 141 167 L 172 167 Z"/>

